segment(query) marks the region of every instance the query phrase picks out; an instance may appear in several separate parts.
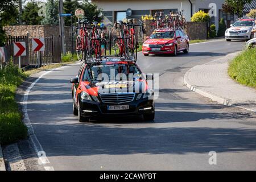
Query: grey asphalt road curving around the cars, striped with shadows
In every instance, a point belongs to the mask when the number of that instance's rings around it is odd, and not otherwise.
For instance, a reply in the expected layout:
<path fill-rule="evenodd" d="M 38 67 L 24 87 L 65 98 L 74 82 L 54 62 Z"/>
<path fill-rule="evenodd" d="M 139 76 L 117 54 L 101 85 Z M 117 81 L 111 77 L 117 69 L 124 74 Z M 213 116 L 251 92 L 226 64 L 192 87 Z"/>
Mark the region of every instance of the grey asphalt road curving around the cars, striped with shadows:
<path fill-rule="evenodd" d="M 79 65 L 43 76 L 31 89 L 27 111 L 35 134 L 55 170 L 256 169 L 255 115 L 210 102 L 183 85 L 194 65 L 234 51 L 245 42 L 191 45 L 190 53 L 139 53 L 145 73 L 159 73 L 155 122 L 106 118 L 79 123 L 72 114 L 71 84 Z M 210 165 L 210 151 L 217 165 Z"/>

